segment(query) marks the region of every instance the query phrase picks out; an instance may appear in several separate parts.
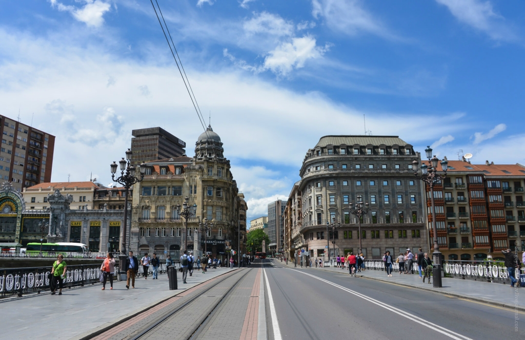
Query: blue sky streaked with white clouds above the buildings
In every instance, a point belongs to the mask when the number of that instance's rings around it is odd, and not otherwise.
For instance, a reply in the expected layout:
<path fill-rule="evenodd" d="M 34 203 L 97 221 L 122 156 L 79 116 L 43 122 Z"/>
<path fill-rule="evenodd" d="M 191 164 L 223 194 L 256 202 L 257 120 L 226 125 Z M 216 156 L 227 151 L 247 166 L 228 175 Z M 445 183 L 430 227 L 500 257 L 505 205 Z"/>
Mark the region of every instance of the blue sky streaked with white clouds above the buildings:
<path fill-rule="evenodd" d="M 525 2 L 158 0 L 248 218 L 322 135 L 525 163 Z M 0 1 L 0 113 L 57 136 L 53 180 L 110 182 L 131 130 L 202 126 L 149 0 Z"/>

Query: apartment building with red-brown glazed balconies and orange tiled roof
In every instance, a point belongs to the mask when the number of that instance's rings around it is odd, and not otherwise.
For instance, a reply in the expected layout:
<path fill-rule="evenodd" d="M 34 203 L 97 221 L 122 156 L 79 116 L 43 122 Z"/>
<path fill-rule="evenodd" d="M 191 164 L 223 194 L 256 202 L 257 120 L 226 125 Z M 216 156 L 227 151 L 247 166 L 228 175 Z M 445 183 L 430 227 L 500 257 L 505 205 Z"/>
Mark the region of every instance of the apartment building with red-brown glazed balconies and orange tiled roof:
<path fill-rule="evenodd" d="M 449 161 L 434 188 L 439 249 L 449 260 L 502 258 L 501 250 L 525 251 L 525 167 Z M 430 196 L 427 192 L 430 217 Z M 430 237 L 433 237 L 432 229 Z"/>

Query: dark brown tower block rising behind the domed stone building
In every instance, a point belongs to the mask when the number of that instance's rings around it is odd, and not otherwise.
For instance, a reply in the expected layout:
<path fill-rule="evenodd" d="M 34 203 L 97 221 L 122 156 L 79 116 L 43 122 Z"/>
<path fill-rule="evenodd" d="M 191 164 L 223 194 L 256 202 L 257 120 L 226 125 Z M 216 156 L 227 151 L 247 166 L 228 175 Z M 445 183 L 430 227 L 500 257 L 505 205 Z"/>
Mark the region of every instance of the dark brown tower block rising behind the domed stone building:
<path fill-rule="evenodd" d="M 134 166 L 142 162 L 186 156 L 186 143 L 161 127 L 133 130 L 131 134 L 131 163 Z"/>

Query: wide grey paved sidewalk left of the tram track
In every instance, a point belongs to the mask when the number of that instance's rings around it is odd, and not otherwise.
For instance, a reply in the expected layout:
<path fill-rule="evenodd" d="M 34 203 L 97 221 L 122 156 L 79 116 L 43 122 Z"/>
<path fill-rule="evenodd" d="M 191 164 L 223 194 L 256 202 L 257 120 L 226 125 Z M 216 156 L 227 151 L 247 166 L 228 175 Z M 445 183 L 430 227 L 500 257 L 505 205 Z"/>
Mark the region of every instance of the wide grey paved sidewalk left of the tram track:
<path fill-rule="evenodd" d="M 38 295 L 34 298 L 6 301 L 0 304 L 4 311 L 2 337 L 69 339 L 93 328 L 116 322 L 157 304 L 193 286 L 229 272 L 227 268 L 208 269 L 206 274 L 194 271 L 181 281 L 177 272 L 178 289 L 169 290 L 166 274 L 158 280 L 138 278 L 135 289 L 126 289 L 125 281 L 113 283 L 113 290 L 101 291 L 101 285 L 62 290 L 62 295 Z"/>

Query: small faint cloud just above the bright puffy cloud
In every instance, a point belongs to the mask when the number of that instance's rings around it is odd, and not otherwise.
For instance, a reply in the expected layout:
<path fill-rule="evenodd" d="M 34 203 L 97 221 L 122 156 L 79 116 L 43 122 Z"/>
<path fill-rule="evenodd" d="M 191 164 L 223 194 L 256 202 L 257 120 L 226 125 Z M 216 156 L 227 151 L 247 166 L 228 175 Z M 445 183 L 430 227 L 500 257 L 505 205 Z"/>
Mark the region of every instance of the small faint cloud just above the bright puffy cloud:
<path fill-rule="evenodd" d="M 248 36 L 259 33 L 278 37 L 293 34 L 293 23 L 287 22 L 279 15 L 268 12 L 255 14 L 253 18 L 244 22 L 243 27 Z"/>

